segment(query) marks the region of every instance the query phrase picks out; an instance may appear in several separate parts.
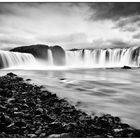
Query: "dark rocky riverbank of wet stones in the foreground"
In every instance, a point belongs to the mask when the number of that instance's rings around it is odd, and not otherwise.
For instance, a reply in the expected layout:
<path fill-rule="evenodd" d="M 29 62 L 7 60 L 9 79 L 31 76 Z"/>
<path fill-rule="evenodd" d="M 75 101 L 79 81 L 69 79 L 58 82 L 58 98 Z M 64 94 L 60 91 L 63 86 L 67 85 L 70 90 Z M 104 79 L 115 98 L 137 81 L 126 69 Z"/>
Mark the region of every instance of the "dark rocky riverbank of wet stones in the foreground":
<path fill-rule="evenodd" d="M 0 77 L 0 137 L 140 137 L 119 117 L 89 116 L 29 80 Z"/>

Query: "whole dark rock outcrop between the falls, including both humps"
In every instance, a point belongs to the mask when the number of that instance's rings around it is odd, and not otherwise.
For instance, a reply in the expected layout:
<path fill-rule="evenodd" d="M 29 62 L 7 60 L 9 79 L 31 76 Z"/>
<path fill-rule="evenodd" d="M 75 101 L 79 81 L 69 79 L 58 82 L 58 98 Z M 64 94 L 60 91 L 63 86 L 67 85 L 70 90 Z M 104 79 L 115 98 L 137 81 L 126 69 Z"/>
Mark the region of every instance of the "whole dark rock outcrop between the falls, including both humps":
<path fill-rule="evenodd" d="M 65 51 L 60 46 L 49 47 L 47 45 L 31 45 L 31 46 L 22 46 L 11 49 L 13 52 L 21 53 L 31 53 L 34 57 L 47 60 L 48 59 L 48 50 L 52 51 L 53 63 L 55 65 L 64 65 L 65 64 Z"/>

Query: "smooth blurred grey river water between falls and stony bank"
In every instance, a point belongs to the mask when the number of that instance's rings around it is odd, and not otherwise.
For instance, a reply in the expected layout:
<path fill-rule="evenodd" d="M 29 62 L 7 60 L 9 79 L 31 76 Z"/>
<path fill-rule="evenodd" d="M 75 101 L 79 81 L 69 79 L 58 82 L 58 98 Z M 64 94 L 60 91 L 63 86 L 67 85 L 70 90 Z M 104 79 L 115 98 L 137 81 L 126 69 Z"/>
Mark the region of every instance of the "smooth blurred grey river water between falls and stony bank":
<path fill-rule="evenodd" d="M 87 113 L 110 113 L 140 128 L 140 69 L 0 70 L 67 98 Z"/>

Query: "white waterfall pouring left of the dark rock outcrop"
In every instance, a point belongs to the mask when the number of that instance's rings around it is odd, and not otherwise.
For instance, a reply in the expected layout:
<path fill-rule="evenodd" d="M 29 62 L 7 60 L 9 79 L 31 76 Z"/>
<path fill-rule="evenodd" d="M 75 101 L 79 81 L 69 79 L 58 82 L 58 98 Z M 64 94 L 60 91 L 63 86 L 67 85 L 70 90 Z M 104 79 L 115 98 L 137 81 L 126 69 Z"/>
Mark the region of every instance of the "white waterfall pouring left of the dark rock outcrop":
<path fill-rule="evenodd" d="M 28 65 L 35 63 L 35 61 L 32 54 L 0 50 L 0 68 Z"/>

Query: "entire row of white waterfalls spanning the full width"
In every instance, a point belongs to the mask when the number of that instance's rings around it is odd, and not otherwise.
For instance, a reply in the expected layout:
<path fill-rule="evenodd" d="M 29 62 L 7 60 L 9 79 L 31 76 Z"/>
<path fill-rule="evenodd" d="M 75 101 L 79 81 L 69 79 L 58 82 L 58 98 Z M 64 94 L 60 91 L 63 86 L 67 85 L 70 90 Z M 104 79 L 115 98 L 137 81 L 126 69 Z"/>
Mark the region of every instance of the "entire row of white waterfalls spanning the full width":
<path fill-rule="evenodd" d="M 48 58 L 38 60 L 29 53 L 0 51 L 0 68 L 23 66 L 29 69 L 47 69 L 62 65 L 81 68 L 140 66 L 140 47 L 65 51 L 65 55 L 57 54 L 55 57 L 51 49 L 48 49 L 47 53 Z M 65 63 L 55 65 L 54 62 L 60 60 Z"/>

